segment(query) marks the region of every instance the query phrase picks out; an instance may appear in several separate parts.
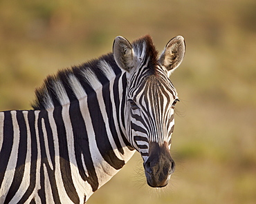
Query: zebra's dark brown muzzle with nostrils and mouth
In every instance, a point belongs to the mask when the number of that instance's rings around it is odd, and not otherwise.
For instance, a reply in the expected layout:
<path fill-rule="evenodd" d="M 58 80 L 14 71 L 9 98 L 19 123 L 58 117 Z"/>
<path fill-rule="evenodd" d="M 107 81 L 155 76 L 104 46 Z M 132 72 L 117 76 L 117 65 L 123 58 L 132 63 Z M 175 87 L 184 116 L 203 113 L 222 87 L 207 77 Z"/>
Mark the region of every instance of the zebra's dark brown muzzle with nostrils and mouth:
<path fill-rule="evenodd" d="M 158 143 L 151 143 L 149 157 L 143 165 L 147 184 L 150 187 L 165 187 L 175 170 L 175 163 L 167 144 L 159 146 Z"/>

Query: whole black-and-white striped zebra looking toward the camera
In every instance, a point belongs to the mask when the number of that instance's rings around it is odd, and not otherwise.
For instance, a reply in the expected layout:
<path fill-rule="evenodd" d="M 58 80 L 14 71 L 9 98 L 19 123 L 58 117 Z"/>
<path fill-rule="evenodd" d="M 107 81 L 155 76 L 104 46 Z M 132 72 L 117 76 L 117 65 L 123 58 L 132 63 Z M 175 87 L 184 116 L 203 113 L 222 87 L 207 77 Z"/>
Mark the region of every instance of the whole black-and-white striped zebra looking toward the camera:
<path fill-rule="evenodd" d="M 185 54 L 171 39 L 158 56 L 152 37 L 48 76 L 35 90 L 33 110 L 0 112 L 0 203 L 86 203 L 134 152 L 147 184 L 164 187 L 174 106 L 169 77 Z"/>

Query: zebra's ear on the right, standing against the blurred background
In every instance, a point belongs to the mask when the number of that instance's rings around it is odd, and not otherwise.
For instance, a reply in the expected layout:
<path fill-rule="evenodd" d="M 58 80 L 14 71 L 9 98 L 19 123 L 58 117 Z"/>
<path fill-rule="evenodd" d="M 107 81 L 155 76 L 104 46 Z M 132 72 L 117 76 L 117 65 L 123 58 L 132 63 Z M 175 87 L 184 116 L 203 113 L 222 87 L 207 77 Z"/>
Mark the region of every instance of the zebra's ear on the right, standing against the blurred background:
<path fill-rule="evenodd" d="M 185 41 L 182 36 L 171 39 L 159 58 L 159 62 L 167 69 L 168 74 L 179 67 L 185 55 Z"/>

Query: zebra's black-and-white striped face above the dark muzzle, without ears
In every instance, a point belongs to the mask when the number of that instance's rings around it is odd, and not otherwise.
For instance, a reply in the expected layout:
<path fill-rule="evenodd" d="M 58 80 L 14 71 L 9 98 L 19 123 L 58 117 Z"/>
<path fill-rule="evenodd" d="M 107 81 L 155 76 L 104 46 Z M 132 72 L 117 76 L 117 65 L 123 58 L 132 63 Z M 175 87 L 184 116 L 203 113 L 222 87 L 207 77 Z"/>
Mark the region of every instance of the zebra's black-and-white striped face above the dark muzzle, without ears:
<path fill-rule="evenodd" d="M 174 130 L 174 106 L 179 101 L 176 89 L 157 65 L 157 74 L 131 78 L 127 92 L 129 141 L 147 161 L 150 143 L 166 144 L 170 149 Z"/>

